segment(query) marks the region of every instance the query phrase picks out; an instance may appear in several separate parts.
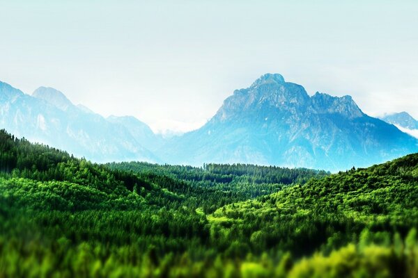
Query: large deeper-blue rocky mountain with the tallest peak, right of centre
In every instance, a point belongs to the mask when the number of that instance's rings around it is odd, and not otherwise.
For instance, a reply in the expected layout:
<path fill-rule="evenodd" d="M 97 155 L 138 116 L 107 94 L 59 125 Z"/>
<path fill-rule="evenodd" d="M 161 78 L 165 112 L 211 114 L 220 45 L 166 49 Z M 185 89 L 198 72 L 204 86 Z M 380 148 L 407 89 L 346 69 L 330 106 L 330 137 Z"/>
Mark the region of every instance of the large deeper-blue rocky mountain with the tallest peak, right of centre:
<path fill-rule="evenodd" d="M 258 163 L 345 170 L 418 152 L 418 140 L 364 114 L 350 96 L 316 92 L 280 74 L 235 90 L 196 131 L 169 140 L 168 163 Z"/>

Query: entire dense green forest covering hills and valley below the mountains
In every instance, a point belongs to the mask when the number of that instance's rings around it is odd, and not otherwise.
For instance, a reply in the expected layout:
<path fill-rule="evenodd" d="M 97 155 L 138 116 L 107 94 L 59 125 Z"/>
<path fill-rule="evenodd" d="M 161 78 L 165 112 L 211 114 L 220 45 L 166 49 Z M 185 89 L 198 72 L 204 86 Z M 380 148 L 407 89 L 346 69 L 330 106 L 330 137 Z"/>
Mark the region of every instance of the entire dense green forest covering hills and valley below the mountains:
<path fill-rule="evenodd" d="M 0 277 L 418 277 L 418 154 L 98 165 L 0 131 Z"/>

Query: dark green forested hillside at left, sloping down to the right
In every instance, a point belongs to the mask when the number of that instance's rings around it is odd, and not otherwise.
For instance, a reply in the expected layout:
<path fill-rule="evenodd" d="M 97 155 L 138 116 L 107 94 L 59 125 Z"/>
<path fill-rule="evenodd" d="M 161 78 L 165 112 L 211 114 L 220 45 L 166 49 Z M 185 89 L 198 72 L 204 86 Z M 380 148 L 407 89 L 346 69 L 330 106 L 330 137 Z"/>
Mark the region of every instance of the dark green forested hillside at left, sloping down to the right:
<path fill-rule="evenodd" d="M 0 170 L 0 197 L 6 195 L 5 201 L 13 206 L 75 211 L 118 207 L 125 202 L 137 205 L 141 198 L 132 194 L 134 188 L 154 189 L 134 174 L 109 170 L 57 149 L 31 144 L 4 130 L 0 131 Z"/>

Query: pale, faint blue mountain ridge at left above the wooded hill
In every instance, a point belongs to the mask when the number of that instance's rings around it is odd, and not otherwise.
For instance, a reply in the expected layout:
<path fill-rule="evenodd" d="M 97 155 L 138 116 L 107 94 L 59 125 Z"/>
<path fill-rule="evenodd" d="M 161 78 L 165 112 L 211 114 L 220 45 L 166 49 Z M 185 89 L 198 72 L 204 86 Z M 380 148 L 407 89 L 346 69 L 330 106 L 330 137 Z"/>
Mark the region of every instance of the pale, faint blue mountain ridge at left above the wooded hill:
<path fill-rule="evenodd" d="M 53 88 L 40 87 L 30 96 L 0 82 L 0 127 L 96 162 L 160 161 L 141 145 L 136 130 L 132 135 L 122 124 L 106 120 L 85 106 L 75 106 Z M 150 138 L 152 135 L 146 134 L 146 140 Z"/>

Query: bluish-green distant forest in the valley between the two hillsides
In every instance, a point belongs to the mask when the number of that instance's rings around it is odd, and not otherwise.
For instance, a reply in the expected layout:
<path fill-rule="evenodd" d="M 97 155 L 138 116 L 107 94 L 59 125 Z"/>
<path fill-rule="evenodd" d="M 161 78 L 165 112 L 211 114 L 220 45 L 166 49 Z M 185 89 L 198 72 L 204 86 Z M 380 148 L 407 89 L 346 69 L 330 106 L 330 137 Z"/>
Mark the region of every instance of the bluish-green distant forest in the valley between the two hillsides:
<path fill-rule="evenodd" d="M 200 167 L 150 163 L 109 163 L 114 170 L 134 172 L 142 179 L 186 197 L 183 205 L 212 213 L 234 202 L 276 193 L 285 186 L 325 177 L 325 171 L 256 165 L 207 164 Z"/>

